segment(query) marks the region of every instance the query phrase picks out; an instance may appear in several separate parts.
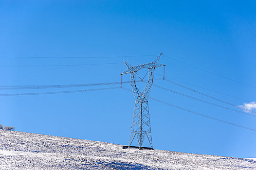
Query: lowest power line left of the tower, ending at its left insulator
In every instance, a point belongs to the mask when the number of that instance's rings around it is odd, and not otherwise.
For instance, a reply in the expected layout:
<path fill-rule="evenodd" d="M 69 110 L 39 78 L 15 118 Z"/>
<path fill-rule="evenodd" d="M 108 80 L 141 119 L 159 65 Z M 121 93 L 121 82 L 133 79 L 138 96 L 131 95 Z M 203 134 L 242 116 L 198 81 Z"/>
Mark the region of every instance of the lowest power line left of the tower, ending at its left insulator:
<path fill-rule="evenodd" d="M 27 95 L 41 95 L 41 94 L 58 94 L 58 93 L 77 93 L 77 92 L 86 92 L 86 91 L 98 91 L 98 90 L 110 90 L 120 88 L 118 87 L 108 87 L 108 88 L 96 88 L 88 90 L 73 90 L 73 91 L 54 91 L 54 92 L 41 92 L 41 93 L 15 93 L 15 94 L 0 94 L 0 96 L 27 96 Z"/>

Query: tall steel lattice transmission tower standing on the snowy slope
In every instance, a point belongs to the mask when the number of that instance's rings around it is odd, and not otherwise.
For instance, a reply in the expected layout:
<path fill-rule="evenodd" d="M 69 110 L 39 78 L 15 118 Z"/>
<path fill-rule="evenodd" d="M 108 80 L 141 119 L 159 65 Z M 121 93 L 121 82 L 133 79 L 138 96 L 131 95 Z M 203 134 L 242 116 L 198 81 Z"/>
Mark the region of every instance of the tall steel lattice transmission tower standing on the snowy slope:
<path fill-rule="evenodd" d="M 149 93 L 151 91 L 151 87 L 153 85 L 155 68 L 159 68 L 163 66 L 165 67 L 165 65 L 158 64 L 158 60 L 160 59 L 162 54 L 163 53 L 160 53 L 159 56 L 152 63 L 142 64 L 142 65 L 133 66 L 133 67 L 124 61 L 128 69 L 121 73 L 121 82 L 122 82 L 122 75 L 130 73 L 131 87 L 135 97 L 135 106 L 133 111 L 133 119 L 131 124 L 130 139 L 129 139 L 128 147 L 131 146 L 131 143 L 134 137 L 137 136 L 139 148 L 141 149 L 146 136 L 151 146 L 151 149 L 153 149 L 149 110 L 148 110 L 148 98 L 149 98 Z M 140 78 L 137 72 L 143 68 L 148 69 L 146 73 L 148 74 L 148 82 L 141 92 L 136 86 L 136 77 L 138 76 Z M 141 81 L 143 81 L 143 79 L 141 79 Z"/>

